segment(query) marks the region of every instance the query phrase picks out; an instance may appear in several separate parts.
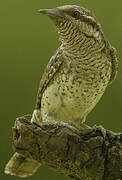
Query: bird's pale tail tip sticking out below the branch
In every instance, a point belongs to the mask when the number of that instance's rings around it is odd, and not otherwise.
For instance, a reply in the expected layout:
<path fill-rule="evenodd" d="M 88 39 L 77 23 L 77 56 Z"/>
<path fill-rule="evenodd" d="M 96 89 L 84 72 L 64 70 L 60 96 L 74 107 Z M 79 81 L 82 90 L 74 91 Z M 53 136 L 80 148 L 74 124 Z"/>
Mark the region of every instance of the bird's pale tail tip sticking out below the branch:
<path fill-rule="evenodd" d="M 41 164 L 36 160 L 15 153 L 5 167 L 5 173 L 19 177 L 27 177 L 32 176 L 40 166 Z"/>

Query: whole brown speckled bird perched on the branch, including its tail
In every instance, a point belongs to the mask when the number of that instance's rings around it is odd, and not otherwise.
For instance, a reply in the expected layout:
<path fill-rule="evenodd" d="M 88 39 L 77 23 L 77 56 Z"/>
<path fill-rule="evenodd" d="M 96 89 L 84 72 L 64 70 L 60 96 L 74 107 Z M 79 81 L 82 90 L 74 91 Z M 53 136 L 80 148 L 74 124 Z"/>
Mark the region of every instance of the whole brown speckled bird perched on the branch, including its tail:
<path fill-rule="evenodd" d="M 117 75 L 116 49 L 105 37 L 96 16 L 84 7 L 65 5 L 40 9 L 38 13 L 52 20 L 61 45 L 42 76 L 31 122 L 39 126 L 62 122 L 87 128 L 83 124 L 87 115 Z M 40 166 L 15 153 L 5 173 L 27 177 Z"/>

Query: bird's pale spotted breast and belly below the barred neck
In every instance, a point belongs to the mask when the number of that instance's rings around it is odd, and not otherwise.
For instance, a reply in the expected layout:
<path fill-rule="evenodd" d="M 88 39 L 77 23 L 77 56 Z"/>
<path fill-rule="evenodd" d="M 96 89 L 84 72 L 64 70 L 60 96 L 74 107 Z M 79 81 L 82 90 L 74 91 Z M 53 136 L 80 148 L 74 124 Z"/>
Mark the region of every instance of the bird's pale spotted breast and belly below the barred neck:
<path fill-rule="evenodd" d="M 103 68 L 95 62 L 93 65 L 92 61 L 91 66 L 79 60 L 64 62 L 43 93 L 43 119 L 64 122 L 82 119 L 103 95 L 110 78 L 107 71 L 107 66 Z"/>

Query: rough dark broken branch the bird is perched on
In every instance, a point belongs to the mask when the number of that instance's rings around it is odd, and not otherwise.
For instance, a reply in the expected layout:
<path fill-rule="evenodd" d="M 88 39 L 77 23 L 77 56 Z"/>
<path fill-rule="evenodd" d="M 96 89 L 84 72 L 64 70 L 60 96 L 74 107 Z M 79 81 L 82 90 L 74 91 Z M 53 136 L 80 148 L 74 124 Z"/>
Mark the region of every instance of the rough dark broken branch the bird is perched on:
<path fill-rule="evenodd" d="M 13 137 L 17 153 L 72 179 L 122 179 L 122 133 L 101 126 L 76 129 L 62 123 L 39 127 L 18 118 Z"/>

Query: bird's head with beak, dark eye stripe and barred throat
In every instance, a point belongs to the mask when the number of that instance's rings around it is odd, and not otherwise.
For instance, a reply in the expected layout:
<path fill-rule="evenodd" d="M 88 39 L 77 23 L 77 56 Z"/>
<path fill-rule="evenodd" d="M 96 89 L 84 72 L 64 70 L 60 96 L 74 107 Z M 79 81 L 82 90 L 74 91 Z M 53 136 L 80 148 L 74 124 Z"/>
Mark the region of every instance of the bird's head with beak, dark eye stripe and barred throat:
<path fill-rule="evenodd" d="M 100 24 L 88 9 L 76 5 L 65 5 L 55 9 L 40 9 L 39 12 L 52 19 L 61 40 L 82 35 L 97 41 L 103 39 Z"/>

